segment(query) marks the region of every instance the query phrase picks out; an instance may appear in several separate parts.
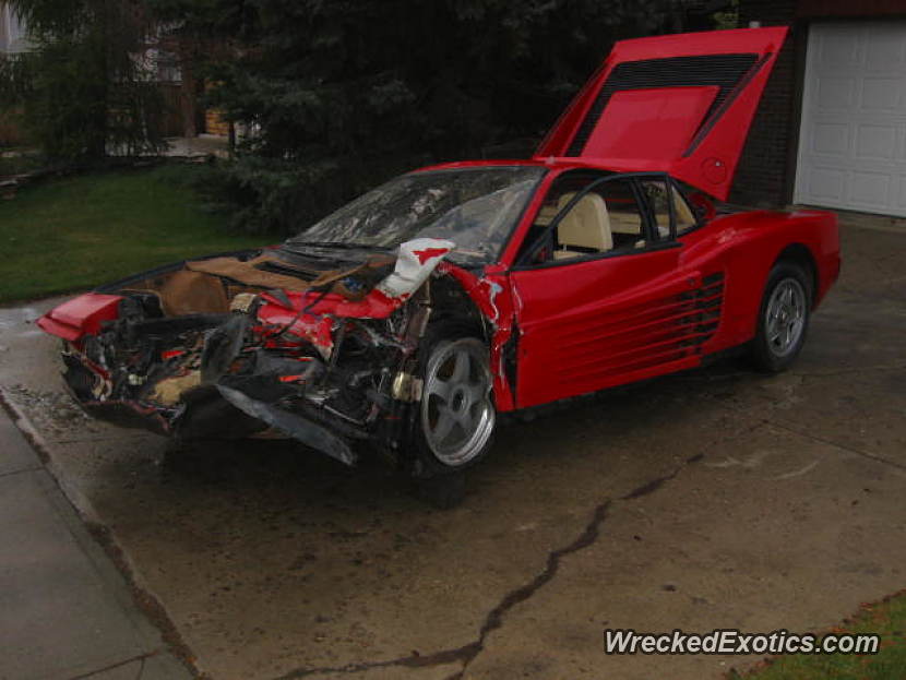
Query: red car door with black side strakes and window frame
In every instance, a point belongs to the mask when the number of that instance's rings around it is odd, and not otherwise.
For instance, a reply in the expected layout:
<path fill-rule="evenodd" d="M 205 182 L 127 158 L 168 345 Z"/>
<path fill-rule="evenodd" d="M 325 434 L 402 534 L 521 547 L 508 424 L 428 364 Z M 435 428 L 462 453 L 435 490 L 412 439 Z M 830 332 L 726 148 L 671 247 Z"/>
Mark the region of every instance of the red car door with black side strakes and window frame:
<path fill-rule="evenodd" d="M 666 213 L 658 210 L 646 187 L 658 182 L 672 189 L 663 175 L 617 176 L 545 201 L 533 241 L 510 275 L 517 301 L 517 407 L 700 362 L 719 322 L 723 276 L 683 264 L 677 211 L 672 203 Z M 600 200 L 589 201 L 594 194 Z M 606 210 L 609 237 L 597 234 L 593 203 Z M 593 234 L 579 242 L 583 225 Z"/>

